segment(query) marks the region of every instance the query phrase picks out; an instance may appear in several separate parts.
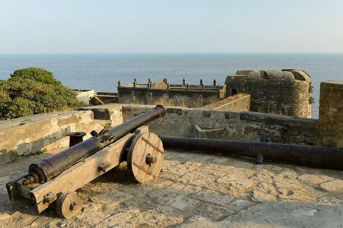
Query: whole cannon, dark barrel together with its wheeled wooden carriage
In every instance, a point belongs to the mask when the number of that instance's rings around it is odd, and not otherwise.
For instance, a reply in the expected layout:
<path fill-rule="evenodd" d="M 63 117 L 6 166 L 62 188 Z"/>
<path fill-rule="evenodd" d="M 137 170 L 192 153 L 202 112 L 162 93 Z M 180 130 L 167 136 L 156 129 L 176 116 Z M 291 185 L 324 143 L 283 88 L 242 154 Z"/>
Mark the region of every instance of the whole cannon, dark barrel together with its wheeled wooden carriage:
<path fill-rule="evenodd" d="M 6 183 L 10 200 L 28 198 L 38 213 L 52 207 L 59 216 L 70 218 L 83 205 L 75 190 L 123 161 L 136 182 L 156 178 L 164 160 L 163 144 L 143 125 L 165 113 L 157 105 L 123 124 L 92 131 L 93 137 L 84 141 L 84 133 L 69 133 L 68 149 L 29 165 L 27 173 Z"/>

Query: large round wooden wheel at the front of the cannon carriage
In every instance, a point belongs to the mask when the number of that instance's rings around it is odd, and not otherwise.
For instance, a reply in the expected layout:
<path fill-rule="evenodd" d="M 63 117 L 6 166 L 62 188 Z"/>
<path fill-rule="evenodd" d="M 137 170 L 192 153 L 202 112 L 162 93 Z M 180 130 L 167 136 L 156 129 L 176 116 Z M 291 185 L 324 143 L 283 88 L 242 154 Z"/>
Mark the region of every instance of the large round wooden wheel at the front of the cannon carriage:
<path fill-rule="evenodd" d="M 153 133 L 137 135 L 127 153 L 127 167 L 135 180 L 145 183 L 158 176 L 164 159 L 161 139 Z"/>

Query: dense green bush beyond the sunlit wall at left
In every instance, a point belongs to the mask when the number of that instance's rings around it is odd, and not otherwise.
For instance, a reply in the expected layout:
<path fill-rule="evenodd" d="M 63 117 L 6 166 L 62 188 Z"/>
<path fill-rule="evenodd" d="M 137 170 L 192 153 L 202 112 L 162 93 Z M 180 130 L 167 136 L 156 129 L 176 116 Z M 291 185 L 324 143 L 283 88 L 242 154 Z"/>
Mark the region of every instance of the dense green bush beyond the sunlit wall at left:
<path fill-rule="evenodd" d="M 58 112 L 87 106 L 76 92 L 65 87 L 42 68 L 18 69 L 0 80 L 0 119 Z"/>

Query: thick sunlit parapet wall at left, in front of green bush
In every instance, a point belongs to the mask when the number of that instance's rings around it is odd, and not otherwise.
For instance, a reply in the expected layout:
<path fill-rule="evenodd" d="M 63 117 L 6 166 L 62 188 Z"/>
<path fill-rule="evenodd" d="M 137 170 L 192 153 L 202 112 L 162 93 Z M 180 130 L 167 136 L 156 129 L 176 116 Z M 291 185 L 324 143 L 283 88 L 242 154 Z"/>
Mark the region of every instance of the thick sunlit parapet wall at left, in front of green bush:
<path fill-rule="evenodd" d="M 0 121 L 0 164 L 41 152 L 54 152 L 69 146 L 67 133 L 86 132 L 102 126 L 94 121 L 92 111 L 49 113 Z"/>

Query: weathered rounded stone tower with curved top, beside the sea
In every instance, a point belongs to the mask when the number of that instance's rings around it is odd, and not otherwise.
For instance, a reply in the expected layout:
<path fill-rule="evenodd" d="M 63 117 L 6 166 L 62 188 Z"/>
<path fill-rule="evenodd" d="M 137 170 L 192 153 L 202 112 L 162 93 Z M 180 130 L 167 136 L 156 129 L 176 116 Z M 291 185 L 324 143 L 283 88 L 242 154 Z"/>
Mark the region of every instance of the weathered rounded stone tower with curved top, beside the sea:
<path fill-rule="evenodd" d="M 303 70 L 238 70 L 225 84 L 227 94 L 251 94 L 251 111 L 311 117 L 311 78 Z"/>

